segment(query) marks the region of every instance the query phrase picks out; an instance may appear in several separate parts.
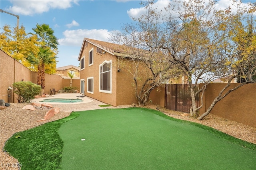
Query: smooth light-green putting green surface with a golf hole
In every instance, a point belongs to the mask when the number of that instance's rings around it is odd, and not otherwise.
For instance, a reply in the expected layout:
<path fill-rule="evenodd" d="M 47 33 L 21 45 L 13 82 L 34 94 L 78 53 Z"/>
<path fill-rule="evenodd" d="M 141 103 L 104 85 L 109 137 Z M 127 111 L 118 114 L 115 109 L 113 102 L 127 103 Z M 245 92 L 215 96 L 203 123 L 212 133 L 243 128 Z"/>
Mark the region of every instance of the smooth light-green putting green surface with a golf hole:
<path fill-rule="evenodd" d="M 256 150 L 151 109 L 80 111 L 63 123 L 62 169 L 254 169 Z M 83 140 L 81 140 L 83 139 Z"/>

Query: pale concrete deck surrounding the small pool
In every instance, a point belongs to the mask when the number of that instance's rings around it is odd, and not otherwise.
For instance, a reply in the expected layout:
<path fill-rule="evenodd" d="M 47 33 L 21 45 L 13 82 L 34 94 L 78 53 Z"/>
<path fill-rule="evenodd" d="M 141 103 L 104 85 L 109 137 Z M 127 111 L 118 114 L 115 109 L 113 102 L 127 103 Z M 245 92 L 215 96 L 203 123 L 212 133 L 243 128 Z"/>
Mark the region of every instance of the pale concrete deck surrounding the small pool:
<path fill-rule="evenodd" d="M 60 108 L 60 111 L 62 112 L 72 112 L 72 111 L 87 111 L 87 110 L 94 110 L 94 109 L 106 109 L 106 108 L 114 108 L 113 106 L 110 107 L 100 107 L 99 105 L 107 105 L 106 103 L 103 103 L 101 101 L 97 101 L 95 99 L 92 99 L 90 97 L 84 96 L 84 97 L 77 97 L 82 96 L 80 93 L 61 93 L 56 95 L 51 95 L 49 97 L 40 97 L 33 99 L 35 103 L 46 103 L 49 105 L 52 105 L 52 107 L 58 107 Z M 40 102 L 44 99 L 82 99 L 82 102 L 78 103 L 53 103 L 53 102 Z"/>

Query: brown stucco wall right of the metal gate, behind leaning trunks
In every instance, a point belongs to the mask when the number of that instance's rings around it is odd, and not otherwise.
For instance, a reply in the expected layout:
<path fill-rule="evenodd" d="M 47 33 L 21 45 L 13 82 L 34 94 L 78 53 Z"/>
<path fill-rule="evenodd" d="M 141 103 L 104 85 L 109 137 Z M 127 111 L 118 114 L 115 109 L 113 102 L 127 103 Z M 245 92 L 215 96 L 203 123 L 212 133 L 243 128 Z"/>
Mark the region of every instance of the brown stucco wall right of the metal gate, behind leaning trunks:
<path fill-rule="evenodd" d="M 210 106 L 214 98 L 218 95 L 226 83 L 211 83 L 207 85 L 204 98 L 205 107 L 200 109 L 200 114 L 204 113 Z M 237 86 L 232 83 L 230 88 Z M 251 127 L 256 127 L 256 84 L 247 84 L 232 91 L 224 99 L 219 101 L 210 114 L 243 123 Z"/>

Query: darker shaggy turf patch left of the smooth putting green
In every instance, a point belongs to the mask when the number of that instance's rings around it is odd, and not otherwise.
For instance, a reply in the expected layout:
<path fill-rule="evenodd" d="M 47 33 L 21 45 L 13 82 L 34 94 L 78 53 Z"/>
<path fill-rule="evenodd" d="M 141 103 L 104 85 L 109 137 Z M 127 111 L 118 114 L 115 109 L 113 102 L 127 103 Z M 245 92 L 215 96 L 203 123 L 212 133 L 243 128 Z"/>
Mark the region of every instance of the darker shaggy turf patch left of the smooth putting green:
<path fill-rule="evenodd" d="M 64 119 L 18 132 L 7 140 L 4 150 L 18 159 L 22 170 L 60 170 L 63 142 L 58 129 L 78 116 L 71 113 Z"/>

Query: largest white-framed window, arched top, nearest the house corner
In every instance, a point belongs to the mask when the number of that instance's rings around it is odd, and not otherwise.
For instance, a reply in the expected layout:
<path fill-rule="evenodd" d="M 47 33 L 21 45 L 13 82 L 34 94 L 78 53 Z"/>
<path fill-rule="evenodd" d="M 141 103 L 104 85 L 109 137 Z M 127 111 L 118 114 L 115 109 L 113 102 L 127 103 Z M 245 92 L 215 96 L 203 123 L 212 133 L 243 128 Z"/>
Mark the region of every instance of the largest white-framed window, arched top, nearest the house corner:
<path fill-rule="evenodd" d="M 112 61 L 104 61 L 100 65 L 100 92 L 112 93 L 111 63 Z"/>

